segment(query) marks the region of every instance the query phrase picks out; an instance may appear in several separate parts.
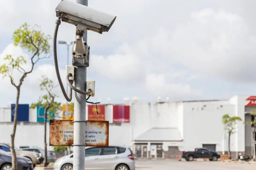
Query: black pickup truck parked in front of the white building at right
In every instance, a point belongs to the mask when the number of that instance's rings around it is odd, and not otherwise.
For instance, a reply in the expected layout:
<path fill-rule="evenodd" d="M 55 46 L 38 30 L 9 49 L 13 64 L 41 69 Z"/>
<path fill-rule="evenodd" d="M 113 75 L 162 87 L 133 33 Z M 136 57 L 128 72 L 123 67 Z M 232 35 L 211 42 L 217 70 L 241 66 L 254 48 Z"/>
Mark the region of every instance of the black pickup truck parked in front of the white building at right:
<path fill-rule="evenodd" d="M 195 148 L 194 152 L 181 152 L 181 156 L 187 161 L 193 161 L 194 158 L 207 158 L 210 161 L 217 161 L 221 157 L 219 153 L 212 152 L 206 147 Z"/>

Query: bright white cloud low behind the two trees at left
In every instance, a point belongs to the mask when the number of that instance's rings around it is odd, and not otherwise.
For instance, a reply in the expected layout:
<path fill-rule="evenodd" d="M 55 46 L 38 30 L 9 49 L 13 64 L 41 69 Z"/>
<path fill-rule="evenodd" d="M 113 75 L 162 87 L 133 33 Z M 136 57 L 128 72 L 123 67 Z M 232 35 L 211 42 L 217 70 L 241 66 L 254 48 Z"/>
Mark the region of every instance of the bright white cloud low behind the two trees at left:
<path fill-rule="evenodd" d="M 0 65 L 3 64 L 3 61 L 4 61 L 3 58 L 6 56 L 6 54 L 12 54 L 14 56 L 23 55 L 24 57 L 29 58 L 29 55 L 24 53 L 23 50 L 19 46 L 9 44 L 3 50 L 3 52 L 0 54 Z M 46 75 L 49 79 L 52 79 L 56 85 L 58 84 L 57 77 L 55 74 L 55 67 L 53 65 L 49 65 L 49 64 L 44 64 L 44 65 L 38 65 L 38 64 L 40 64 L 40 61 L 35 64 L 34 70 L 32 71 L 31 74 L 27 75 L 27 77 L 24 79 L 23 84 L 21 85 L 21 90 L 20 90 L 21 91 L 21 94 L 20 94 L 20 102 L 21 103 L 35 102 L 41 94 L 45 94 L 45 92 L 41 91 L 40 87 L 39 87 L 39 85 L 41 83 L 40 82 L 41 77 L 43 75 Z M 31 64 L 23 65 L 23 68 L 31 69 Z M 64 83 L 65 71 L 60 70 L 60 74 L 61 74 L 62 82 Z M 19 83 L 19 79 L 21 76 L 22 75 L 18 71 L 13 72 L 12 77 L 13 77 L 16 85 Z M 2 79 L 2 76 L 1 76 L 0 84 L 1 84 L 0 93 L 8 95 L 8 96 L 6 96 L 6 98 L 9 101 L 15 102 L 17 91 L 16 91 L 15 87 L 11 84 L 9 77 L 5 77 Z M 58 96 L 60 96 L 60 98 L 57 99 L 58 101 L 63 100 L 62 99 L 63 95 L 61 93 L 60 87 L 55 88 L 54 92 Z M 6 99 L 2 98 L 2 100 L 0 100 L 0 101 L 4 101 L 4 100 L 6 100 Z"/>

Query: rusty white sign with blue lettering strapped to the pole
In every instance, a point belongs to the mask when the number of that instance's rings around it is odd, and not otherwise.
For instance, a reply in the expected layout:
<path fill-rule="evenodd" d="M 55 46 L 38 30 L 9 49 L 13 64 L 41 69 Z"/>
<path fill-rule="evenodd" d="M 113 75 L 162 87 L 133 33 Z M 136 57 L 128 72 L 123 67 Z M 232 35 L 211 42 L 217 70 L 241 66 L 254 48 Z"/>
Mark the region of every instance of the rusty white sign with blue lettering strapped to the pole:
<path fill-rule="evenodd" d="M 87 121 L 85 144 L 87 146 L 108 146 L 108 121 Z M 72 120 L 50 120 L 50 146 L 72 146 L 74 123 Z"/>

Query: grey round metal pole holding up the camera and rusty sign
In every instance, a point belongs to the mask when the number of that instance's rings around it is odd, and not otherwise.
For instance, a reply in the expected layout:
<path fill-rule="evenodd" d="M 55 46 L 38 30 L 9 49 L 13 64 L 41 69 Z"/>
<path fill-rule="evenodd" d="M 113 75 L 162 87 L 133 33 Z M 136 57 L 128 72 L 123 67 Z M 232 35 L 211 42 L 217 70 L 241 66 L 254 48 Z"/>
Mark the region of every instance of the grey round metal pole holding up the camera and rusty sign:
<path fill-rule="evenodd" d="M 76 3 L 88 6 L 88 0 L 76 0 Z M 87 31 L 84 32 L 83 40 L 87 42 Z M 78 66 L 75 69 L 75 87 L 81 91 L 85 91 L 86 83 L 86 67 Z M 74 141 L 73 146 L 73 170 L 84 170 L 85 147 L 76 144 L 85 144 L 85 107 L 86 95 L 75 92 L 74 101 Z M 76 122 L 76 120 L 80 120 Z M 84 122 L 83 122 L 84 121 Z"/>

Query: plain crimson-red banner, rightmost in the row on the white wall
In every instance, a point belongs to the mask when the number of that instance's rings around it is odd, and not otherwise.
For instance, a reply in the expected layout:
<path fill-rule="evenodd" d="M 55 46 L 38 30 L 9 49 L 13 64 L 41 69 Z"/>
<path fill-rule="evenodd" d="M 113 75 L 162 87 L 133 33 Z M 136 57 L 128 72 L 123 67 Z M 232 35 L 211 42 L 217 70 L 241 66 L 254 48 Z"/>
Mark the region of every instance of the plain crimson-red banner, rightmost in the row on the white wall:
<path fill-rule="evenodd" d="M 130 122 L 130 106 L 113 105 L 113 123 Z"/>

